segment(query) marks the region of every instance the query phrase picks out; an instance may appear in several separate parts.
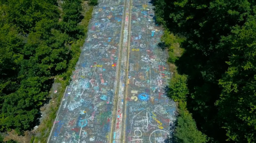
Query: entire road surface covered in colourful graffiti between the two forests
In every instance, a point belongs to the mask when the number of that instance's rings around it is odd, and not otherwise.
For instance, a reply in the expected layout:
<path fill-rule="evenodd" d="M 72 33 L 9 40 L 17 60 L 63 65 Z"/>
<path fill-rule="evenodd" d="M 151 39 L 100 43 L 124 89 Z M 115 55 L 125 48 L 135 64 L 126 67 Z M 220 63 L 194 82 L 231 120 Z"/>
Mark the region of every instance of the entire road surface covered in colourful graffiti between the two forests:
<path fill-rule="evenodd" d="M 150 0 L 100 0 L 48 142 L 165 142 L 176 105 Z"/>

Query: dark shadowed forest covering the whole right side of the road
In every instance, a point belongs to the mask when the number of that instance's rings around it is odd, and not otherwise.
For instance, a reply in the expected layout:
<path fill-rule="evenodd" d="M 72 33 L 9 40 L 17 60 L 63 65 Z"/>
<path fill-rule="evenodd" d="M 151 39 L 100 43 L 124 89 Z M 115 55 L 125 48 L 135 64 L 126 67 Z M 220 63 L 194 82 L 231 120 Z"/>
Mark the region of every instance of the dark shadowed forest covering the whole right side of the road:
<path fill-rule="evenodd" d="M 178 72 L 169 87 L 180 108 L 176 140 L 256 142 L 256 1 L 153 2 Z M 184 122 L 186 109 L 197 127 Z"/>

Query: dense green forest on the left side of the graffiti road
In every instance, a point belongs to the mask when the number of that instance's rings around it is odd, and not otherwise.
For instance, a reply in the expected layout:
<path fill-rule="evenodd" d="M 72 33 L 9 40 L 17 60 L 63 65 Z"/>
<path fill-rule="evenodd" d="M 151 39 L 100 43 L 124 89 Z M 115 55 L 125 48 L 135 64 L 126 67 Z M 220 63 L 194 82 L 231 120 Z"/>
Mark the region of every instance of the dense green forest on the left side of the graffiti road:
<path fill-rule="evenodd" d="M 56 75 L 69 79 L 87 28 L 77 0 L 0 1 L 0 131 L 38 124 Z M 89 1 L 96 5 L 97 1 Z"/>

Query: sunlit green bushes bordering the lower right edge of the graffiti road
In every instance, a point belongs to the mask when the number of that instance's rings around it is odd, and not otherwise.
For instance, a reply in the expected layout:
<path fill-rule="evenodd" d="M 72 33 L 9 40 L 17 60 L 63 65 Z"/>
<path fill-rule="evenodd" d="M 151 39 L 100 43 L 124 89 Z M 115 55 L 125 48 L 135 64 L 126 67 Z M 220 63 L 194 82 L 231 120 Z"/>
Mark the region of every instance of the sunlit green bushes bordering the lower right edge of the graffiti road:
<path fill-rule="evenodd" d="M 186 108 L 186 95 L 188 88 L 186 85 L 187 76 L 175 74 L 170 80 L 168 97 L 179 102 L 179 115 L 176 121 L 174 132 L 174 142 L 206 142 L 206 135 L 197 129 L 196 122 Z"/>

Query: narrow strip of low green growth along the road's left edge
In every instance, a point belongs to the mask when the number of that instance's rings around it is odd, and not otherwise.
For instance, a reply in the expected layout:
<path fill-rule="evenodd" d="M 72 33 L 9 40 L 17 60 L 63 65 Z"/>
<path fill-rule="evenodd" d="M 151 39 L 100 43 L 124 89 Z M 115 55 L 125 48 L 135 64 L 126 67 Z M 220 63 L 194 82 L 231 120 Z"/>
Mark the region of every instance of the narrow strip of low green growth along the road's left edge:
<path fill-rule="evenodd" d="M 84 19 L 82 19 L 82 21 L 81 21 L 81 26 L 84 27 L 84 34 L 86 34 L 88 31 L 89 21 L 92 17 L 92 12 L 93 12 L 92 6 L 87 6 L 86 9 L 87 8 L 88 8 L 88 10 L 84 14 Z M 60 90 L 58 90 L 57 95 L 63 95 L 63 93 L 65 92 L 65 87 L 69 84 L 69 80 L 72 75 L 72 71 L 74 70 L 76 62 L 78 61 L 78 58 L 80 56 L 80 52 L 81 52 L 80 47 L 83 45 L 84 39 L 81 38 L 81 39 L 77 40 L 76 42 L 71 41 L 69 43 L 71 44 L 69 46 L 69 48 L 70 48 L 69 52 L 70 52 L 70 56 L 72 57 L 72 59 L 69 60 L 66 72 L 62 73 L 59 76 L 56 76 L 56 78 L 59 78 L 62 80 L 55 80 L 55 82 L 60 82 L 61 87 L 63 87 Z M 60 105 L 61 99 L 62 99 L 62 96 L 57 96 L 57 101 L 54 102 L 55 104 L 52 104 L 50 107 L 48 117 L 42 121 L 42 124 L 41 124 L 40 128 L 38 129 L 38 132 L 40 132 L 40 136 L 35 136 L 34 138 L 32 138 L 30 140 L 31 142 L 35 142 L 35 143 L 47 142 L 47 138 L 50 135 L 50 129 L 52 127 L 53 121 L 55 120 L 56 112 Z"/>

